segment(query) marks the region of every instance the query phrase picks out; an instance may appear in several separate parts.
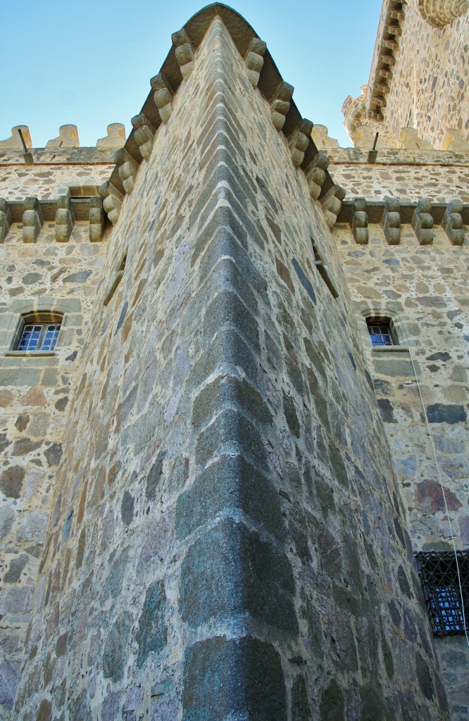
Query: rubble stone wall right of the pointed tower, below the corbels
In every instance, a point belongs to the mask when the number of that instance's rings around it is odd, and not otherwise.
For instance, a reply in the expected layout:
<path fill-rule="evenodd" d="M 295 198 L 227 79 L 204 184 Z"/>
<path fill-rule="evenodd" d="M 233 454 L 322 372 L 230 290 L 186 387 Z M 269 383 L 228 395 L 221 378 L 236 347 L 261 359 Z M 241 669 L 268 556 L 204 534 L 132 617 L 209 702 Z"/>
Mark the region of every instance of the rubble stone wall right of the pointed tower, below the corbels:
<path fill-rule="evenodd" d="M 362 342 L 393 451 L 413 549 L 452 550 L 452 543 L 411 357 L 437 450 L 455 544 L 457 549 L 466 549 L 468 239 L 461 247 L 453 246 L 442 228 L 436 226 L 433 244 L 419 246 L 412 227 L 403 225 L 400 244 L 390 246 L 376 224 L 369 226 L 367 245 L 354 242 L 349 226 L 338 224 L 334 236 L 360 319 Z M 402 350 L 372 350 L 365 324 L 365 317 L 372 315 L 393 320 Z M 467 642 L 457 637 L 435 642 L 452 719 L 463 721 L 469 714 Z"/>

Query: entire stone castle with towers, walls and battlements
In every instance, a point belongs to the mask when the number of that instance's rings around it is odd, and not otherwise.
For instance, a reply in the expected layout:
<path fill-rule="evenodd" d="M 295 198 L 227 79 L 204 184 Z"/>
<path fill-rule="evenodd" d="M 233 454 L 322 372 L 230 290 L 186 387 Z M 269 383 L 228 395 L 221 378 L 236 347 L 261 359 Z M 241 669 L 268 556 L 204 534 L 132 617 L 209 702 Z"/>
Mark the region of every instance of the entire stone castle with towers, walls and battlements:
<path fill-rule="evenodd" d="M 468 718 L 468 18 L 384 0 L 353 148 L 222 4 L 0 141 L 1 719 Z"/>

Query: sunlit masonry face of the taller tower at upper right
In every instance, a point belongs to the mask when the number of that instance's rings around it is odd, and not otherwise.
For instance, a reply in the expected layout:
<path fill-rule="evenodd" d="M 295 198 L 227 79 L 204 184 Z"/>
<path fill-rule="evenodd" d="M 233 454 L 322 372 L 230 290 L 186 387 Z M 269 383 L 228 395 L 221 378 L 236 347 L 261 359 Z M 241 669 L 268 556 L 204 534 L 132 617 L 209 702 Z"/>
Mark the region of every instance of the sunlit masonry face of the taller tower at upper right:
<path fill-rule="evenodd" d="M 400 128 L 416 128 L 434 148 L 442 146 L 448 128 L 468 140 L 469 13 L 440 29 L 408 5 L 403 10 L 384 123 L 397 138 Z"/>

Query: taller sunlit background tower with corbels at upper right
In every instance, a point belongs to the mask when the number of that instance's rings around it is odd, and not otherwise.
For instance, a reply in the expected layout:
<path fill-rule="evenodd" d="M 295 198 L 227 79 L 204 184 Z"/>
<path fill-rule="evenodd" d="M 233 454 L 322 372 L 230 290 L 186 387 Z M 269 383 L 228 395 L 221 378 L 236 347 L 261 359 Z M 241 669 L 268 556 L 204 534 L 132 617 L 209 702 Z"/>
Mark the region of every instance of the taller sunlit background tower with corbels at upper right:
<path fill-rule="evenodd" d="M 468 38 L 466 0 L 384 0 L 368 85 L 342 108 L 354 145 L 369 127 L 390 148 L 469 148 Z"/>

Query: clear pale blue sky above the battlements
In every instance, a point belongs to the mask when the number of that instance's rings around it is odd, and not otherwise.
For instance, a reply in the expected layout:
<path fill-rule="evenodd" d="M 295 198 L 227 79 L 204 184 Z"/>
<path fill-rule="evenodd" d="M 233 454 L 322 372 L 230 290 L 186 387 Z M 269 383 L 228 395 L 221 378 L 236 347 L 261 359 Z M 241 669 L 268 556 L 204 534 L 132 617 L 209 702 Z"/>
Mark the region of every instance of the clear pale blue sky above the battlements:
<path fill-rule="evenodd" d="M 266 41 L 305 118 L 328 125 L 350 146 L 341 107 L 368 81 L 380 0 L 310 0 L 289 4 L 232 0 Z M 202 3 L 137 0 L 26 0 L 2 8 L 0 139 L 29 125 L 35 147 L 78 125 L 80 144 L 95 145 L 106 125 L 136 115 L 171 45 Z"/>

